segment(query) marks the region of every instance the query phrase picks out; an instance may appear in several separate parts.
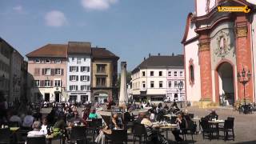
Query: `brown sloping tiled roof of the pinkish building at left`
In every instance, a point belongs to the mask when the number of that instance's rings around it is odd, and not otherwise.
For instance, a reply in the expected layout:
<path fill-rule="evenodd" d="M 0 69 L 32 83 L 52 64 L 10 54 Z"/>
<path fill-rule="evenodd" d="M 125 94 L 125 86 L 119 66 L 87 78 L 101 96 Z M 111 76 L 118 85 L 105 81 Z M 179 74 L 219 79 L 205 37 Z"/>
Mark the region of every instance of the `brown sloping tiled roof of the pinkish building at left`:
<path fill-rule="evenodd" d="M 27 58 L 33 57 L 56 57 L 56 58 L 66 58 L 67 54 L 67 45 L 62 44 L 47 44 L 42 46 L 37 50 L 26 54 Z"/>

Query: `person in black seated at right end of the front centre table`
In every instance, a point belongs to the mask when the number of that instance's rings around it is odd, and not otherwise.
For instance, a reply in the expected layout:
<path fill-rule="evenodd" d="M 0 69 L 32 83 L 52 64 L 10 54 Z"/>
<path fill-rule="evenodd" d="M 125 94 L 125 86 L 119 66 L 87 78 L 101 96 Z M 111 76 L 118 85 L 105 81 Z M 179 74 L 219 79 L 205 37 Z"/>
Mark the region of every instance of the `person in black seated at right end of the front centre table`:
<path fill-rule="evenodd" d="M 182 142 L 183 139 L 179 136 L 179 134 L 182 134 L 182 129 L 187 128 L 186 118 L 184 118 L 183 113 L 179 113 L 178 118 L 176 119 L 176 123 L 178 124 L 180 129 L 172 130 L 172 133 L 174 134 L 174 138 L 176 142 Z"/>

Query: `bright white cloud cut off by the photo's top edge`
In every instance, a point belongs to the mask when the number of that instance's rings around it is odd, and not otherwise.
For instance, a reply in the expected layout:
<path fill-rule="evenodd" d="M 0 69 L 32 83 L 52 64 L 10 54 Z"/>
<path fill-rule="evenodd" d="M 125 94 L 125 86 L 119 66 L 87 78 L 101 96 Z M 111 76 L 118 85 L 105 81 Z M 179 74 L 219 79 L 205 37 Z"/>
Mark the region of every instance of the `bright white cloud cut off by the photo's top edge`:
<path fill-rule="evenodd" d="M 106 10 L 118 0 L 81 0 L 86 10 Z"/>

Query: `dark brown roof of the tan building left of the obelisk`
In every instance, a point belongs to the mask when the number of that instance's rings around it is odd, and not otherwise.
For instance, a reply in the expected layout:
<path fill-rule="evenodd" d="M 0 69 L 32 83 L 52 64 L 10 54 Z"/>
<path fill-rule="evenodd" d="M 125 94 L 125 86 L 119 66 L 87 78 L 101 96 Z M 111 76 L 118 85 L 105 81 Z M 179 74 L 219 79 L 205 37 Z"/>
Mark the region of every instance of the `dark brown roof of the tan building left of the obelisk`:
<path fill-rule="evenodd" d="M 110 50 L 106 48 L 92 48 L 93 58 L 118 58 Z"/>

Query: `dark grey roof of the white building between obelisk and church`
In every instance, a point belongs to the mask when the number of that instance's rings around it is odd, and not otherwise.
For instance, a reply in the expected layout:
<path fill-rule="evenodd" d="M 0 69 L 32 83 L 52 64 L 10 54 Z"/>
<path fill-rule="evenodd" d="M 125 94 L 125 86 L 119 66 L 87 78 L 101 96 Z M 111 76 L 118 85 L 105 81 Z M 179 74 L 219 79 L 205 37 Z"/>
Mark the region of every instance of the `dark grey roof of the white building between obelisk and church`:
<path fill-rule="evenodd" d="M 146 58 L 141 64 L 139 64 L 134 70 L 145 68 L 158 68 L 158 67 L 184 67 L 184 55 L 176 56 L 150 56 Z"/>

